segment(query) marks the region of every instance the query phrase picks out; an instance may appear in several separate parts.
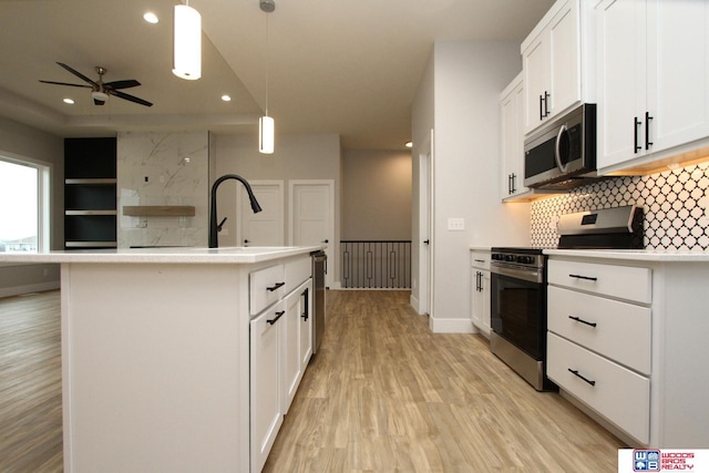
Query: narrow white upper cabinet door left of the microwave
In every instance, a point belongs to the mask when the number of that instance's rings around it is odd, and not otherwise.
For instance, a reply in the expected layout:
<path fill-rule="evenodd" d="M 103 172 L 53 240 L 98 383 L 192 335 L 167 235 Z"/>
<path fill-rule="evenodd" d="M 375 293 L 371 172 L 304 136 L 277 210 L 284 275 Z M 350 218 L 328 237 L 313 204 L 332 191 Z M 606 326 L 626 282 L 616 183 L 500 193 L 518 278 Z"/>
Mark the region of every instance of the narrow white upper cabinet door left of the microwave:
<path fill-rule="evenodd" d="M 524 83 L 517 75 L 500 96 L 502 199 L 518 197 L 524 186 Z"/>

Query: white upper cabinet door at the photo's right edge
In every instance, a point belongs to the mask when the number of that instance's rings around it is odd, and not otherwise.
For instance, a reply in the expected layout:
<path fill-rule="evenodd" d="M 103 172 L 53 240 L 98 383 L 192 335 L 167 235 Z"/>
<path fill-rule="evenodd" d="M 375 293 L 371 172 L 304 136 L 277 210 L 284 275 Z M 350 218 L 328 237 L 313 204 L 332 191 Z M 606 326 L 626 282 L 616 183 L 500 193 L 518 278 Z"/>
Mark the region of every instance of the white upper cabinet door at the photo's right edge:
<path fill-rule="evenodd" d="M 648 0 L 647 21 L 651 153 L 709 136 L 709 1 Z"/>

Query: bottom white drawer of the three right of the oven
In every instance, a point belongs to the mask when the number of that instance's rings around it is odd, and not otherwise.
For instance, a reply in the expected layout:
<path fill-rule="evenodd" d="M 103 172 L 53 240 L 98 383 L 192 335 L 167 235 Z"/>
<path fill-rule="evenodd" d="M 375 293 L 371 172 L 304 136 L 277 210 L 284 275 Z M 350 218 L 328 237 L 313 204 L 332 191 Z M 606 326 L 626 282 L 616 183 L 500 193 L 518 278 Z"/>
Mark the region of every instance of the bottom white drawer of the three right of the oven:
<path fill-rule="evenodd" d="M 577 371 L 578 376 L 569 370 Z M 649 379 L 551 332 L 547 333 L 547 376 L 641 443 L 649 442 Z"/>

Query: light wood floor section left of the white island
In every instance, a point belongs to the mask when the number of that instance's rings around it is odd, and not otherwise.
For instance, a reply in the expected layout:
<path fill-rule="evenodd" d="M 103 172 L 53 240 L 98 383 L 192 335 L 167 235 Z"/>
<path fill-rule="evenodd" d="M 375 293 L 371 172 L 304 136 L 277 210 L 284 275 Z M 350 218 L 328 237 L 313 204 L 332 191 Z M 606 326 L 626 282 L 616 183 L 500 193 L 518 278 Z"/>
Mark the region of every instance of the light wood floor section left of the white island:
<path fill-rule="evenodd" d="M 0 472 L 62 471 L 59 291 L 0 299 Z"/>

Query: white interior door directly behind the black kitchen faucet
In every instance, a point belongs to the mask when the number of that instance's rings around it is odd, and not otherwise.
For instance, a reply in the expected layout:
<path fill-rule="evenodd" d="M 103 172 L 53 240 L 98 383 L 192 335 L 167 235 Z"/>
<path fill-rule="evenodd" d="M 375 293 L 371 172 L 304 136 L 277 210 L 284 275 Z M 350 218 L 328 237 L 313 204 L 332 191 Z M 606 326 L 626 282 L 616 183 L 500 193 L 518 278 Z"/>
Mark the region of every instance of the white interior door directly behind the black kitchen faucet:
<path fill-rule="evenodd" d="M 261 206 L 254 214 L 246 188 L 240 186 L 236 200 L 239 225 L 236 230 L 238 246 L 284 246 L 284 182 L 251 181 L 251 191 Z"/>

